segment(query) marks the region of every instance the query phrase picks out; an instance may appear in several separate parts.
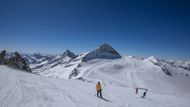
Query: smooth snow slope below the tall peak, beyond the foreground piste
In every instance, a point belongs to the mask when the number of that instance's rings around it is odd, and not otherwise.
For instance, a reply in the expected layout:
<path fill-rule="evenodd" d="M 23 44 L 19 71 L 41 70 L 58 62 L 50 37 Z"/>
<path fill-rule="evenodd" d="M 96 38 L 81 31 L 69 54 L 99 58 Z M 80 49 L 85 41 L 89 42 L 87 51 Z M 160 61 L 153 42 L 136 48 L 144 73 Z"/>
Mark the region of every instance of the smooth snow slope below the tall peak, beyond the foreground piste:
<path fill-rule="evenodd" d="M 81 73 L 75 78 L 101 80 L 129 88 L 147 88 L 158 93 L 186 95 L 190 89 L 190 77 L 177 73 L 190 72 L 170 68 L 172 76 L 169 76 L 162 67 L 154 65 L 148 59 L 124 57 L 116 60 L 92 60 L 78 68 L 78 71 Z"/>

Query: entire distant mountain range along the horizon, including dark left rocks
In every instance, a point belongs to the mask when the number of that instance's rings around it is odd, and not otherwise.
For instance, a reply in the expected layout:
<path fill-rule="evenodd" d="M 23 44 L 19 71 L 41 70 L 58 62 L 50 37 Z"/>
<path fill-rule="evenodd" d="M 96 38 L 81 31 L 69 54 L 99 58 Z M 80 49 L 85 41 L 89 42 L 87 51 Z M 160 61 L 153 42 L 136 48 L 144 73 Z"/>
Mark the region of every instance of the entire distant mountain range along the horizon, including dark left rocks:
<path fill-rule="evenodd" d="M 3 62 L 8 62 L 8 60 L 15 58 L 15 53 L 8 53 L 4 56 L 3 54 L 6 53 L 1 52 L 0 64 L 5 64 Z M 189 76 L 189 71 L 190 71 L 190 61 L 163 60 L 163 59 L 158 59 L 154 56 L 142 59 L 136 58 L 135 56 L 121 57 L 121 55 L 115 49 L 113 49 L 112 46 L 110 46 L 109 44 L 103 44 L 91 52 L 79 55 L 76 55 L 70 50 L 66 50 L 63 54 L 60 55 L 41 55 L 40 53 L 20 55 L 18 52 L 16 52 L 16 54 L 18 57 L 16 59 L 19 60 L 14 60 L 16 61 L 16 62 L 12 61 L 14 62 L 14 64 L 12 65 L 8 64 L 8 65 L 48 77 L 65 78 L 65 79 L 84 78 L 85 76 L 87 76 L 88 74 L 87 72 L 90 69 L 88 67 L 91 65 L 92 66 L 91 69 L 93 69 L 94 63 L 96 63 L 95 67 L 97 67 L 101 66 L 106 62 L 112 62 L 112 61 L 117 62 L 126 58 L 128 60 L 136 59 L 139 62 L 145 60 L 149 61 L 155 67 L 159 67 L 166 75 L 169 76 L 172 76 L 173 75 L 172 72 L 176 70 L 178 70 L 179 71 L 178 73 L 181 73 L 181 75 Z M 126 61 L 123 61 L 122 63 L 124 64 L 125 62 Z M 134 69 L 136 69 L 135 66 Z"/>

